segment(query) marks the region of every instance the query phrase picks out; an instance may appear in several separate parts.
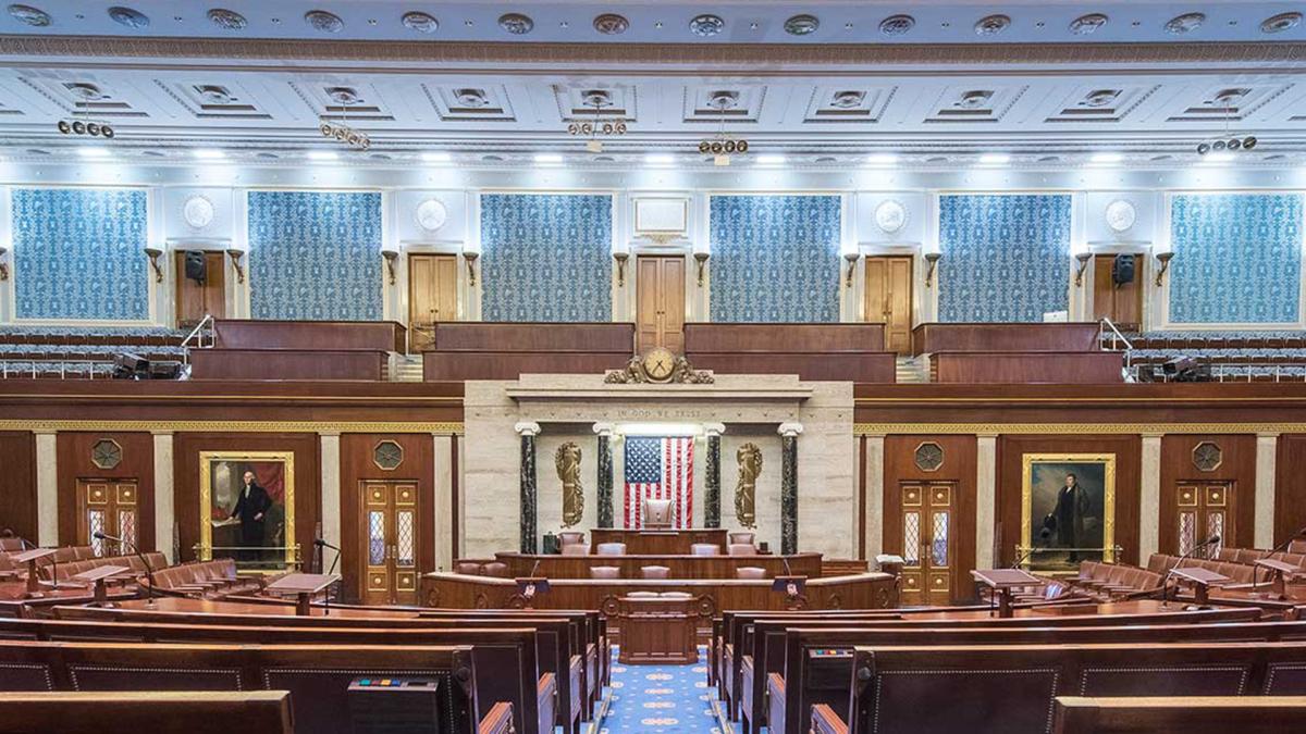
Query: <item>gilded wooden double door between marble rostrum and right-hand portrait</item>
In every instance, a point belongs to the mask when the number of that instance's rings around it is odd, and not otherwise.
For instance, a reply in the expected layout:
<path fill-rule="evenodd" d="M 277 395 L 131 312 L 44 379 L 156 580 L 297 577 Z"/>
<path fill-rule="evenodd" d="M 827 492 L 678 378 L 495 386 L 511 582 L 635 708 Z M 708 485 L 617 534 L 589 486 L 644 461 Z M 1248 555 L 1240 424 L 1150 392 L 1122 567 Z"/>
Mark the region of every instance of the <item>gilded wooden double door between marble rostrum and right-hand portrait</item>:
<path fill-rule="evenodd" d="M 902 603 L 947 605 L 957 588 L 957 507 L 951 482 L 904 482 Z"/>

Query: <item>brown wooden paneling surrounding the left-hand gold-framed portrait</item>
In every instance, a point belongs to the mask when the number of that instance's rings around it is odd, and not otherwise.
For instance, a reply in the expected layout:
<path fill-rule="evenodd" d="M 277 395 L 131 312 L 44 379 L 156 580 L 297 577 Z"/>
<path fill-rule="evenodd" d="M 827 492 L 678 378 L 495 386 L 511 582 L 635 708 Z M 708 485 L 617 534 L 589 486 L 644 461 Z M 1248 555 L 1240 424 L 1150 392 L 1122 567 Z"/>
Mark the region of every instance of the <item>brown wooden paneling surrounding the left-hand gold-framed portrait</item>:
<path fill-rule="evenodd" d="M 182 560 L 195 560 L 200 542 L 200 452 L 289 451 L 295 456 L 295 542 L 307 564 L 321 519 L 321 460 L 316 434 L 174 434 L 174 512 Z"/>

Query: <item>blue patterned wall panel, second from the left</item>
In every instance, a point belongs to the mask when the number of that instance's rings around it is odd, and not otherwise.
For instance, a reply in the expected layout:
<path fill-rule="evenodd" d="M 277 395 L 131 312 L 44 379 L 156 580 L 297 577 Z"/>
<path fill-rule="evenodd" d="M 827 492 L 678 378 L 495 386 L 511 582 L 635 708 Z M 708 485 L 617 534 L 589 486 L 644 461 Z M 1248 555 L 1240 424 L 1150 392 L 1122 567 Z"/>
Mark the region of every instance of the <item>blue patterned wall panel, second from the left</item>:
<path fill-rule="evenodd" d="M 381 195 L 251 191 L 255 319 L 381 317 Z"/>

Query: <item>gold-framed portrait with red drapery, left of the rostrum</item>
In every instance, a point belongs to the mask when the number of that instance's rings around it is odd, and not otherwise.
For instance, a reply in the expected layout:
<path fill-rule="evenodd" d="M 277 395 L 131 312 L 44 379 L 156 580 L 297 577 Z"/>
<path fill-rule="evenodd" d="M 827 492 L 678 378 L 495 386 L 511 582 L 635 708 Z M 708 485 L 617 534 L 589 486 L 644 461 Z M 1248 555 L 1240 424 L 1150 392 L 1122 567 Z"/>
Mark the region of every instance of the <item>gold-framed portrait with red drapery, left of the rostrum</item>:
<path fill-rule="evenodd" d="M 235 559 L 243 571 L 298 566 L 295 455 L 200 452 L 201 560 Z"/>

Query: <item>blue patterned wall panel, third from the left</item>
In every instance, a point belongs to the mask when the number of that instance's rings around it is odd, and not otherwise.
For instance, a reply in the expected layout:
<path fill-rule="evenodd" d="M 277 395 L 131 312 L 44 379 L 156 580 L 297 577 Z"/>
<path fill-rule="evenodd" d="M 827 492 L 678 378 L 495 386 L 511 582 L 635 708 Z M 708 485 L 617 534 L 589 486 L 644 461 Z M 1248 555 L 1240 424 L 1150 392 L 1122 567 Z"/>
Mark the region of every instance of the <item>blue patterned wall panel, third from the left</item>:
<path fill-rule="evenodd" d="M 486 321 L 609 321 L 613 197 L 481 197 L 481 316 Z"/>

